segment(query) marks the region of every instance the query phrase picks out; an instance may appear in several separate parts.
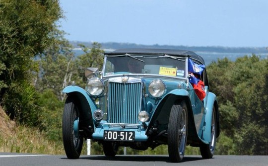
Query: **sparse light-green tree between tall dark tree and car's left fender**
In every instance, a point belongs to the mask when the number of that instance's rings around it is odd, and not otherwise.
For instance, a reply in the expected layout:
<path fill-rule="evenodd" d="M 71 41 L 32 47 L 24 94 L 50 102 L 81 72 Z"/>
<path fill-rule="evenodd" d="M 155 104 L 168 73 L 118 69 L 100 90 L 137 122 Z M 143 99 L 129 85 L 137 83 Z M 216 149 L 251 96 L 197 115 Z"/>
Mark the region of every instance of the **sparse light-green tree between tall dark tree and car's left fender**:
<path fill-rule="evenodd" d="M 36 87 L 39 91 L 52 89 L 58 98 L 63 101 L 65 98 L 62 92 L 72 79 L 74 68 L 74 53 L 72 45 L 64 37 L 64 31 L 55 29 L 51 34 L 54 41 L 42 54 L 40 54 L 39 68 Z"/>

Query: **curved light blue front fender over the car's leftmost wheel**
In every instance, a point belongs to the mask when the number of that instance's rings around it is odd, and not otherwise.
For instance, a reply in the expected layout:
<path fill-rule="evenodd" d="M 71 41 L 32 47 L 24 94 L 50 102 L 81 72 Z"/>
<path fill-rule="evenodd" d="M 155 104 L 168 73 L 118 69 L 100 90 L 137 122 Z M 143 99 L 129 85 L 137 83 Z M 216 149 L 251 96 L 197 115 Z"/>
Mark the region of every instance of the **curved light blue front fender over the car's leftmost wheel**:
<path fill-rule="evenodd" d="M 90 117 L 92 117 L 93 112 L 95 110 L 98 109 L 96 103 L 94 100 L 92 100 L 92 98 L 90 98 L 90 95 L 81 87 L 79 86 L 67 86 L 63 89 L 64 93 L 67 93 L 68 96 L 74 96 L 76 98 L 84 98 L 83 101 L 80 100 L 80 102 L 85 102 L 85 103 L 81 103 L 80 106 L 82 108 L 82 111 L 84 112 L 84 114 L 88 114 Z M 88 109 L 88 107 L 90 107 L 90 110 Z M 93 118 L 93 121 L 95 122 L 95 119 Z M 94 130 L 95 130 L 95 123 L 93 123 L 94 126 Z"/>

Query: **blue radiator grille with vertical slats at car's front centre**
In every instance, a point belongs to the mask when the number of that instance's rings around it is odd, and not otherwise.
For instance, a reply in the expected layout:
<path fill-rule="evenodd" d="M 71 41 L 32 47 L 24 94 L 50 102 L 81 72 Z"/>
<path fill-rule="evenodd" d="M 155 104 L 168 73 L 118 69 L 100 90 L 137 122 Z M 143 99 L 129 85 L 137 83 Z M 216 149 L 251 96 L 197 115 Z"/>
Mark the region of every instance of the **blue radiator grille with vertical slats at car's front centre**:
<path fill-rule="evenodd" d="M 108 122 L 136 124 L 141 103 L 141 83 L 109 83 Z"/>

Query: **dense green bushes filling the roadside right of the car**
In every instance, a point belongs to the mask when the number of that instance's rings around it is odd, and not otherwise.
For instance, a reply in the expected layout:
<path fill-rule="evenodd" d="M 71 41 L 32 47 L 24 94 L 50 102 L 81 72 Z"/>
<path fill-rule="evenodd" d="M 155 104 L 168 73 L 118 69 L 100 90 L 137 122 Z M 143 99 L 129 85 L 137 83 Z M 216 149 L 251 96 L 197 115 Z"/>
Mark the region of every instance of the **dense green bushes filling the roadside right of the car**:
<path fill-rule="evenodd" d="M 218 96 L 222 137 L 233 140 L 237 155 L 268 155 L 268 59 L 218 60 L 207 73 Z"/>

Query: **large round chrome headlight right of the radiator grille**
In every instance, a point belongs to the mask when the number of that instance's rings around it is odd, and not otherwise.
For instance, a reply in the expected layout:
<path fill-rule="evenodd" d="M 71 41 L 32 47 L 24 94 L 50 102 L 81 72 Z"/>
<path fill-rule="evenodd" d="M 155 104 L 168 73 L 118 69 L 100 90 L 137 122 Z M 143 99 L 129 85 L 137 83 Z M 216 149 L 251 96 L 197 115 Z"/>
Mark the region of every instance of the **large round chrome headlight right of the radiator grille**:
<path fill-rule="evenodd" d="M 166 84 L 161 80 L 153 80 L 148 90 L 153 97 L 161 97 L 166 91 Z"/>

